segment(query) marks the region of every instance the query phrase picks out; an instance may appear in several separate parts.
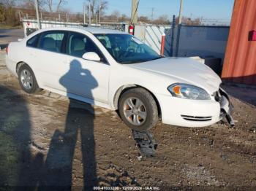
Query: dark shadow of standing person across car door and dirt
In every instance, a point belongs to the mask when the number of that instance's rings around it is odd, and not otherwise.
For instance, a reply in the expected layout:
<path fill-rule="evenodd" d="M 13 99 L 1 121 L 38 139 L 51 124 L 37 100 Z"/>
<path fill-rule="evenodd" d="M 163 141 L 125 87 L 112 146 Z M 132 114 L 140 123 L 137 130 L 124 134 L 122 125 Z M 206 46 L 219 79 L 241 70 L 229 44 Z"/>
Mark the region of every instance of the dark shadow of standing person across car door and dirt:
<path fill-rule="evenodd" d="M 66 88 L 68 96 L 71 93 L 75 95 L 83 93 L 82 96 L 92 98 L 91 90 L 97 87 L 97 80 L 89 70 L 82 68 L 78 60 L 70 63 L 69 71 L 59 79 L 59 83 Z M 84 109 L 81 104 L 79 101 L 69 99 L 64 133 L 56 130 L 50 141 L 42 186 L 61 186 L 61 190 L 71 190 L 72 164 L 74 157 L 77 157 L 75 149 L 79 146 L 78 140 L 81 140 L 83 186 L 85 190 L 92 190 L 98 184 L 94 151 L 94 108 L 87 106 Z M 80 139 L 78 139 L 79 134 Z M 76 168 L 80 168 L 80 163 Z"/>

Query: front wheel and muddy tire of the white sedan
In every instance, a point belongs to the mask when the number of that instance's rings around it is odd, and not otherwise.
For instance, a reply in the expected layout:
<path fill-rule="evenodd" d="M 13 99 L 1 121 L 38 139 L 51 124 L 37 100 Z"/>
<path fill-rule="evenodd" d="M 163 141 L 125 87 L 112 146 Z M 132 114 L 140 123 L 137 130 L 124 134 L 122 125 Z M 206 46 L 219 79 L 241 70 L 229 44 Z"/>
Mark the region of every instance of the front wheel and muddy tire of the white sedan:
<path fill-rule="evenodd" d="M 129 128 L 140 132 L 153 128 L 159 120 L 156 101 L 141 87 L 129 89 L 121 95 L 118 112 Z"/>

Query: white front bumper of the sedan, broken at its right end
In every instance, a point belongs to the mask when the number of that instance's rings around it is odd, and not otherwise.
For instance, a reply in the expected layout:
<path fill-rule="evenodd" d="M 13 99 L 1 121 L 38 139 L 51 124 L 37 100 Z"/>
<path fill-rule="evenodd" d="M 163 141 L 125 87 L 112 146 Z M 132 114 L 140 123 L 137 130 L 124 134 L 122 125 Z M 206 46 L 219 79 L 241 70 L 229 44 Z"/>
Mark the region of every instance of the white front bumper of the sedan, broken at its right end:
<path fill-rule="evenodd" d="M 189 100 L 171 95 L 157 95 L 161 108 L 162 122 L 183 127 L 204 127 L 212 125 L 224 117 L 230 117 L 233 106 L 227 93 L 219 90 L 220 99 Z"/>

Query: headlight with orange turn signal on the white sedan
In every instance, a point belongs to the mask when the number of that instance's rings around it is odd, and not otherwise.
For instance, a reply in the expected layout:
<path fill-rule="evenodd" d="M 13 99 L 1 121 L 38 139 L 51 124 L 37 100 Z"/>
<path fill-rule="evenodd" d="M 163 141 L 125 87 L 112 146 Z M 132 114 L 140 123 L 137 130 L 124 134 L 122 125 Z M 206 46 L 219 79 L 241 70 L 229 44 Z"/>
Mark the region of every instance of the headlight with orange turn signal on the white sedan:
<path fill-rule="evenodd" d="M 210 95 L 200 87 L 187 84 L 173 84 L 167 88 L 170 93 L 178 98 L 208 100 Z"/>

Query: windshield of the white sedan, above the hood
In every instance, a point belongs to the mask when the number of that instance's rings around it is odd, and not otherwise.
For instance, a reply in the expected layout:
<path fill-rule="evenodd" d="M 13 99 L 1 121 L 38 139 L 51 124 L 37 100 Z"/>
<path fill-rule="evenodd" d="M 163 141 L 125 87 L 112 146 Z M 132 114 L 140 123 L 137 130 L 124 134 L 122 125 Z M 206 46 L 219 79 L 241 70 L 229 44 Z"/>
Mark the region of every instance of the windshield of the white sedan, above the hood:
<path fill-rule="evenodd" d="M 139 63 L 162 58 L 130 34 L 94 34 L 118 63 Z"/>

